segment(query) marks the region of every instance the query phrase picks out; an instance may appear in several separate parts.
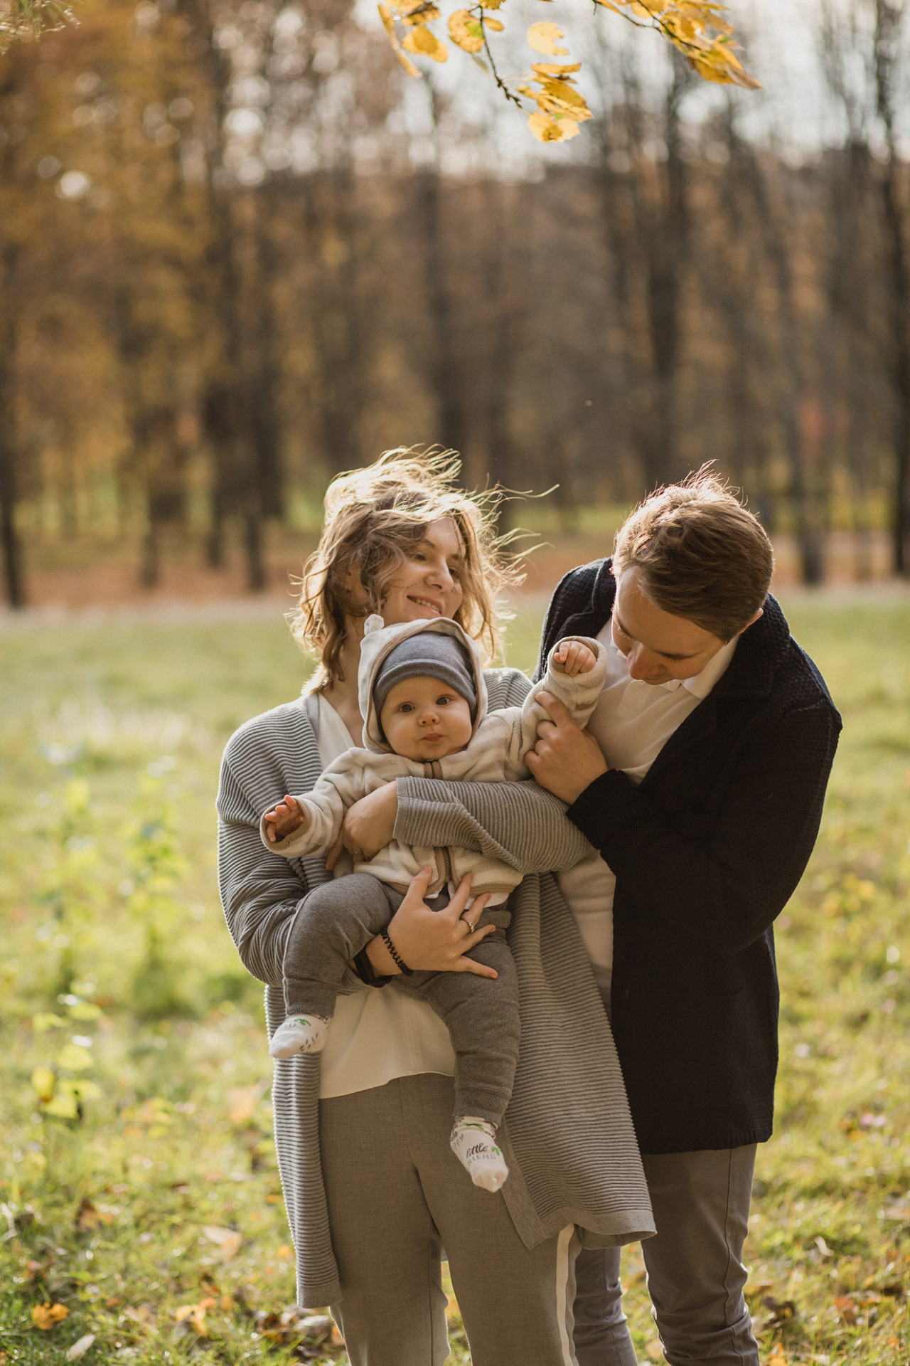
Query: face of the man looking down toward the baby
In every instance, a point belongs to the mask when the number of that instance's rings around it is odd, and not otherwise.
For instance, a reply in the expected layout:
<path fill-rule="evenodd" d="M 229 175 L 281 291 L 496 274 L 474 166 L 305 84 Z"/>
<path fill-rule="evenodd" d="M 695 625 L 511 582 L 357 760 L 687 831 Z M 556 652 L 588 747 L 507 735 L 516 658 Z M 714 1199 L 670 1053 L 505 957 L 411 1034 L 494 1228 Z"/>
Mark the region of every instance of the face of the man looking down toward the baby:
<path fill-rule="evenodd" d="M 639 590 L 637 570 L 626 570 L 617 581 L 613 642 L 625 654 L 632 678 L 655 684 L 693 679 L 724 643 L 694 622 L 649 602 Z"/>

